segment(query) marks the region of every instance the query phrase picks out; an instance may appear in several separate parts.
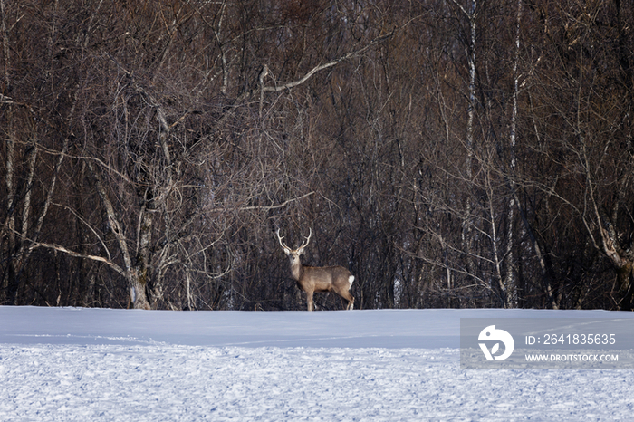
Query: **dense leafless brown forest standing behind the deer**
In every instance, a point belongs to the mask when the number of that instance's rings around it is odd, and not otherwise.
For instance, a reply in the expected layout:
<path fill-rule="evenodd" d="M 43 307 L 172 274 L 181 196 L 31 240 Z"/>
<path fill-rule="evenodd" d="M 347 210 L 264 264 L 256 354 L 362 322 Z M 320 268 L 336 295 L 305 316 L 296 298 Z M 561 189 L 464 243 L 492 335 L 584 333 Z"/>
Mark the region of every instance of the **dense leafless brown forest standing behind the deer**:
<path fill-rule="evenodd" d="M 0 304 L 634 307 L 631 2 L 0 13 Z"/>

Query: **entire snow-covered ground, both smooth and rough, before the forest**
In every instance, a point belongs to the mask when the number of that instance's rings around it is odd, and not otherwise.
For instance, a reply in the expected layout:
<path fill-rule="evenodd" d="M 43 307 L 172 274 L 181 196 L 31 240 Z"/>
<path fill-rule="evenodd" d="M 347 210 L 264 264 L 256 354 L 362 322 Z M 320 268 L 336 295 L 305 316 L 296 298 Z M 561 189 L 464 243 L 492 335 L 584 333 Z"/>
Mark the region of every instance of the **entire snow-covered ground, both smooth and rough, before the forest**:
<path fill-rule="evenodd" d="M 632 370 L 461 370 L 460 318 L 0 307 L 0 420 L 634 420 Z M 633 325 L 634 327 L 634 325 Z"/>

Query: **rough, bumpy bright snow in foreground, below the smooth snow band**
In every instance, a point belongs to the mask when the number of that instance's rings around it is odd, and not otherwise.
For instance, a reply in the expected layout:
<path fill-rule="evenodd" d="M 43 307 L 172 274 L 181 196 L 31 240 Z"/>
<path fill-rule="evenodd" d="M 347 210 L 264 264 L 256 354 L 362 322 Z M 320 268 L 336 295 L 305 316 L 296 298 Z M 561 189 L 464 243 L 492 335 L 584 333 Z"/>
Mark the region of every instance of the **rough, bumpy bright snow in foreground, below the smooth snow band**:
<path fill-rule="evenodd" d="M 0 346 L 0 420 L 631 420 L 629 371 L 460 371 L 458 350 Z"/>

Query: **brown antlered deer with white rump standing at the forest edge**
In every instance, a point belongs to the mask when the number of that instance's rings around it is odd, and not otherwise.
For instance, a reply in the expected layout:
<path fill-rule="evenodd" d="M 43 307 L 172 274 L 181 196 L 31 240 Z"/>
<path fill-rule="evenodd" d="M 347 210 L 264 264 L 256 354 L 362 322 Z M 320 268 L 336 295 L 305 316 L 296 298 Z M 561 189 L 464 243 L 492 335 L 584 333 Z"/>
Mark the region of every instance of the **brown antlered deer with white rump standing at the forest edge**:
<path fill-rule="evenodd" d="M 341 298 L 348 301 L 346 309 L 351 310 L 354 307 L 354 296 L 351 295 L 350 288 L 352 282 L 354 282 L 354 275 L 350 271 L 340 265 L 316 267 L 303 265 L 300 262 L 300 255 L 303 254 L 304 249 L 311 242 L 311 235 L 312 230 L 309 228 L 306 241 L 293 250 L 283 244 L 283 237 L 280 237 L 280 229 L 277 229 L 277 238 L 291 262 L 291 275 L 297 282 L 297 287 L 306 292 L 308 311 L 312 311 L 312 293 L 315 292 L 337 293 Z"/>

